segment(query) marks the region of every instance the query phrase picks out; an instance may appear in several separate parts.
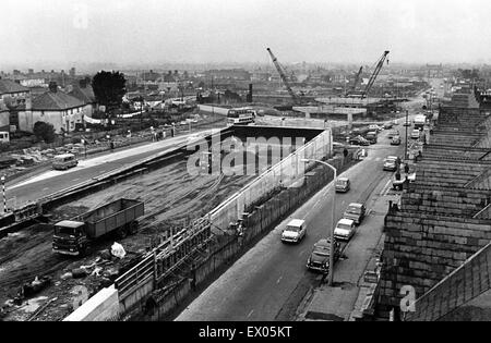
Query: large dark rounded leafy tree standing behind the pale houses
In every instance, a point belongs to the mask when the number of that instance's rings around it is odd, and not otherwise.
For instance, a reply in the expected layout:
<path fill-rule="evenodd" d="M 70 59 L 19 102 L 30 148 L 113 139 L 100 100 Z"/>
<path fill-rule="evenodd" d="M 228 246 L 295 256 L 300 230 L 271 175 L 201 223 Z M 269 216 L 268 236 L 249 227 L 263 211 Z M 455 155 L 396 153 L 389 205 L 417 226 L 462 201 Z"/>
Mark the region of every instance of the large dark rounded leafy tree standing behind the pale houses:
<path fill-rule="evenodd" d="M 107 109 L 118 108 L 127 93 L 127 81 L 120 72 L 98 72 L 92 79 L 97 102 Z"/>

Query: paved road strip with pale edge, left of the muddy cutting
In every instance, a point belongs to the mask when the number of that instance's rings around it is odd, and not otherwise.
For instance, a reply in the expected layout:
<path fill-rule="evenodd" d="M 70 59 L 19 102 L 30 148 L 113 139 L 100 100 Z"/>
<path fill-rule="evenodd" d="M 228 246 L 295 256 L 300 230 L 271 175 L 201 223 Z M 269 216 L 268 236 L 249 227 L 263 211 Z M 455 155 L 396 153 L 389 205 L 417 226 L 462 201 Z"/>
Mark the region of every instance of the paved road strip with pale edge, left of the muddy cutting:
<path fill-rule="evenodd" d="M 117 150 L 103 156 L 80 160 L 77 167 L 67 171 L 49 170 L 27 180 L 13 181 L 7 184 L 8 204 L 20 207 L 23 204 L 35 201 L 43 196 L 91 180 L 125 164 L 170 150 L 189 142 L 188 139 L 190 138 L 205 135 L 209 132 L 211 130 L 196 131 L 187 135 L 148 143 L 124 150 Z"/>

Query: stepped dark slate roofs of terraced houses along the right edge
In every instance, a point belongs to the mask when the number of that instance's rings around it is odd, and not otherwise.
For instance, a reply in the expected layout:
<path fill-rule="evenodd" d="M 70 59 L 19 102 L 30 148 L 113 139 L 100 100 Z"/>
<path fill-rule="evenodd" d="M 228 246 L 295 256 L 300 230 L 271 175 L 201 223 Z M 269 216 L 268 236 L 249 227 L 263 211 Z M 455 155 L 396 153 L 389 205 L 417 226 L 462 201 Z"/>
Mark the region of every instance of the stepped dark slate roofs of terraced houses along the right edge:
<path fill-rule="evenodd" d="M 406 320 L 491 319 L 491 115 L 442 108 L 416 183 L 385 218 L 380 309 L 416 291 Z"/>

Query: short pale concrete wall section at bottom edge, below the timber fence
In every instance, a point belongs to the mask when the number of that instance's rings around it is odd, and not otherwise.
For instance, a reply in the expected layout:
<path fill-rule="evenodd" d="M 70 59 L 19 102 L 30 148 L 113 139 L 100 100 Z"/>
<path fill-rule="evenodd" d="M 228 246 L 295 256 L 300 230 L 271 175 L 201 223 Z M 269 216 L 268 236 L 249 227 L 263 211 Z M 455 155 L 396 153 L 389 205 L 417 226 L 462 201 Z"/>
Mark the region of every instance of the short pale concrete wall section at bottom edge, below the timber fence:
<path fill-rule="evenodd" d="M 119 297 L 115 286 L 100 290 L 63 321 L 107 321 L 118 318 Z"/>

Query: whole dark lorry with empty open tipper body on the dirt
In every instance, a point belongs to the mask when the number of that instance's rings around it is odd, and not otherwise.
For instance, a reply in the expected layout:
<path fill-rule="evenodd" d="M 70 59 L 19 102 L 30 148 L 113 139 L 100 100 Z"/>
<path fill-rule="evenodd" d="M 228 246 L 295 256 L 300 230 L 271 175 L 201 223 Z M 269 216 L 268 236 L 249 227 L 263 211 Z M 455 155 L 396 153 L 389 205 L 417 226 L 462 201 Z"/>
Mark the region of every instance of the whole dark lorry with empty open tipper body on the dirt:
<path fill-rule="evenodd" d="M 144 213 L 144 204 L 134 199 L 118 199 L 85 212 L 72 220 L 53 225 L 52 252 L 83 256 L 91 244 L 109 233 L 119 238 L 137 231 L 137 218 Z"/>

